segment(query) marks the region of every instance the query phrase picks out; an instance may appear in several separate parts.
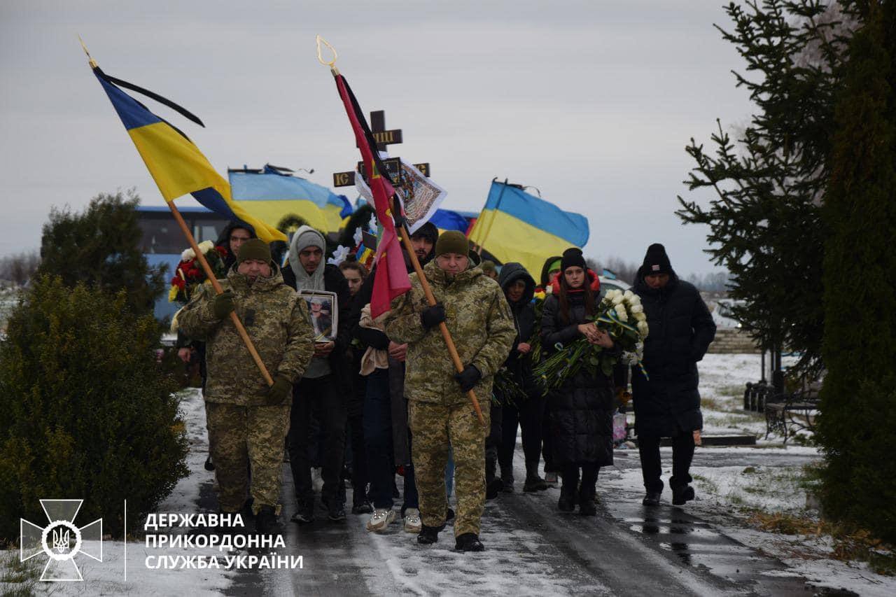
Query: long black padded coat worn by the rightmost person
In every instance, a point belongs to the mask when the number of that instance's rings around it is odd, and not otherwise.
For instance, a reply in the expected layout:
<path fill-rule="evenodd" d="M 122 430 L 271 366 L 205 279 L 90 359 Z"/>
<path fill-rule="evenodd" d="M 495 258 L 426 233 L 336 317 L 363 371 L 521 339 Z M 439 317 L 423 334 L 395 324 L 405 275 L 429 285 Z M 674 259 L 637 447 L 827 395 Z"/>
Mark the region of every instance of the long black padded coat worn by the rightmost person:
<path fill-rule="evenodd" d="M 710 310 L 693 284 L 673 272 L 668 284 L 653 290 L 641 271 L 633 291 L 641 297 L 650 332 L 643 365 L 633 367 L 635 428 L 645 437 L 675 437 L 703 427 L 697 362 L 716 335 Z"/>

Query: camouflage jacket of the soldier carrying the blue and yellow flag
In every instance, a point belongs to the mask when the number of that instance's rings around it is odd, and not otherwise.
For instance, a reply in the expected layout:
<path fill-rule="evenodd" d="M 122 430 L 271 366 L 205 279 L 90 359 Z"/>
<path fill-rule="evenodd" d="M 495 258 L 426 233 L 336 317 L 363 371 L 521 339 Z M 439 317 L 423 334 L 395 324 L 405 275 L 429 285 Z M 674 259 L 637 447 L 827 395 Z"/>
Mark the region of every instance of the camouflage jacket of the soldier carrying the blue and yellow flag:
<path fill-rule="evenodd" d="M 305 372 L 314 352 L 314 335 L 305 301 L 283 283 L 280 269 L 272 267 L 270 278 L 259 277 L 250 284 L 234 266 L 227 280 L 221 280 L 220 284 L 224 290 L 233 291 L 237 316 L 271 377 L 286 376 L 296 381 Z M 214 316 L 215 291 L 211 285 L 201 288 L 177 316 L 177 321 L 187 336 L 206 342 L 205 400 L 263 404 L 267 384 L 261 371 L 230 317 Z"/>

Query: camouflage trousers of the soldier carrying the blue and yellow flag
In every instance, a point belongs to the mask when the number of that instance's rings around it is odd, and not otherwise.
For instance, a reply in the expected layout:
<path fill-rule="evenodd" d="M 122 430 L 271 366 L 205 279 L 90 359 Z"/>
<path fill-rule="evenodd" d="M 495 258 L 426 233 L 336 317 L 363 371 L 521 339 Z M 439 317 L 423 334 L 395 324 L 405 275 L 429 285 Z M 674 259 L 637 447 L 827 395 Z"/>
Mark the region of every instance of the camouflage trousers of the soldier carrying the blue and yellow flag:
<path fill-rule="evenodd" d="M 280 472 L 284 439 L 289 432 L 289 404 L 237 406 L 205 402 L 205 415 L 220 509 L 238 512 L 246 503 L 248 492 L 253 497 L 255 514 L 262 506 L 273 506 L 279 513 Z"/>

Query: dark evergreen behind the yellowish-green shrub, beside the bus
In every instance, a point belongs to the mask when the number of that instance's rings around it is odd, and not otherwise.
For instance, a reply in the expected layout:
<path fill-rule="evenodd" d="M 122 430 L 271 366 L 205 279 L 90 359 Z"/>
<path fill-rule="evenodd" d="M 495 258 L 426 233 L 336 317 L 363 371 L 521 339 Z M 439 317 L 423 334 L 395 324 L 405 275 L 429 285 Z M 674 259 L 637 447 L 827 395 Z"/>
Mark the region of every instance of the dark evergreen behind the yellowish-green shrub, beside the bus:
<path fill-rule="evenodd" d="M 66 286 L 84 282 L 112 294 L 125 289 L 131 307 L 151 312 L 165 290 L 165 272 L 150 267 L 142 254 L 138 203 L 134 194 L 100 194 L 82 213 L 54 209 L 44 224 L 38 274 L 59 276 Z"/>

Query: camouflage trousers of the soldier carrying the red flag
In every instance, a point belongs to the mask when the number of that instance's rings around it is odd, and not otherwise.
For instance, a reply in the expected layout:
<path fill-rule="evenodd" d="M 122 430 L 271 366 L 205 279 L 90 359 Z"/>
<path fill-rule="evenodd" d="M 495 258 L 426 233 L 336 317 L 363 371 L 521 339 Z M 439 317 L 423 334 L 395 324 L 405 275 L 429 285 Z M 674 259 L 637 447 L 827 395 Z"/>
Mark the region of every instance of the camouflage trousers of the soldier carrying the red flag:
<path fill-rule="evenodd" d="M 485 439 L 489 412 L 479 423 L 471 404 L 444 406 L 435 402 L 408 403 L 411 459 L 420 495 L 420 520 L 426 526 L 445 522 L 448 499 L 445 494 L 445 465 L 449 446 L 454 450 L 454 494 L 457 518 L 454 536 L 479 533 L 479 520 L 486 506 Z"/>

